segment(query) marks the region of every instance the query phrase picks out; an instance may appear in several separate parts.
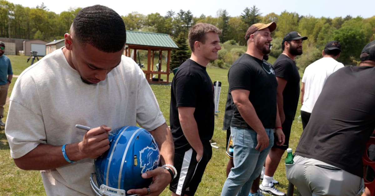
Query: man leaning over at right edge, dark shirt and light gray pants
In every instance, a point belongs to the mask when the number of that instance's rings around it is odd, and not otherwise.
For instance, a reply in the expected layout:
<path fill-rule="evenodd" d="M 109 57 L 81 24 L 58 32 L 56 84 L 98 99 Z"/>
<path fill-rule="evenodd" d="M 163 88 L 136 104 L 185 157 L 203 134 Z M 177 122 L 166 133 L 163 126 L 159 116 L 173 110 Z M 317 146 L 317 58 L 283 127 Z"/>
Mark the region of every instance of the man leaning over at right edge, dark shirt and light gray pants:
<path fill-rule="evenodd" d="M 296 148 L 288 180 L 302 195 L 359 195 L 366 142 L 375 128 L 375 41 L 359 66 L 327 78 Z M 374 193 L 372 193 L 373 195 Z"/>

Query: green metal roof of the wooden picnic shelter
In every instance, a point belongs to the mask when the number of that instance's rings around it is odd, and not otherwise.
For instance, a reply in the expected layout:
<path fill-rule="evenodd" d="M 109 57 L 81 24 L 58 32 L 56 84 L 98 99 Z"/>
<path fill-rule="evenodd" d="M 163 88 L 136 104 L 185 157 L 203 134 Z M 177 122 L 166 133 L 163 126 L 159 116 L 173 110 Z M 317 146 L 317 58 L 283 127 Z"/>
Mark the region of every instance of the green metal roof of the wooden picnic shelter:
<path fill-rule="evenodd" d="M 168 34 L 126 31 L 126 44 L 178 48 Z"/>

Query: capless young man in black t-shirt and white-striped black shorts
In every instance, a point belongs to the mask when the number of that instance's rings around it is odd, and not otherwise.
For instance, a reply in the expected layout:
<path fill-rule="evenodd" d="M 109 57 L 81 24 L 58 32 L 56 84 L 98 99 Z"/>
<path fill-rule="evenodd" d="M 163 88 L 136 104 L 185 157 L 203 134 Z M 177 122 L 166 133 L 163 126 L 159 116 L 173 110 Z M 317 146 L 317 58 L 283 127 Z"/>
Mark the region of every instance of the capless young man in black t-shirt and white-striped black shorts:
<path fill-rule="evenodd" d="M 194 195 L 212 156 L 214 91 L 206 66 L 217 59 L 221 30 L 198 23 L 189 31 L 191 57 L 178 68 L 172 81 L 169 120 L 174 140 L 172 195 Z"/>

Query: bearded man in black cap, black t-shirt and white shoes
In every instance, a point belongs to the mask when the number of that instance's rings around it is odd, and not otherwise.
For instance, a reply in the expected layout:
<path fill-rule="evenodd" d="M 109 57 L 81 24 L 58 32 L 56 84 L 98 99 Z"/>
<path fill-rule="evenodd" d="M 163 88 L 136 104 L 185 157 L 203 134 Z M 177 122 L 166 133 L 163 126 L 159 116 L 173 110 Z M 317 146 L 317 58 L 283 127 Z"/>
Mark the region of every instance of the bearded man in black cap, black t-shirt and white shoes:
<path fill-rule="evenodd" d="M 302 41 L 306 39 L 307 37 L 301 36 L 296 31 L 288 33 L 282 41 L 283 52 L 273 64 L 278 81 L 277 102 L 285 143 L 282 146 L 273 145 L 266 159 L 266 170 L 260 189 L 279 196 L 285 195 L 285 193 L 269 187 L 278 183 L 273 179 L 273 175 L 289 145 L 290 131 L 300 94 L 300 75 L 294 59 L 302 54 Z"/>

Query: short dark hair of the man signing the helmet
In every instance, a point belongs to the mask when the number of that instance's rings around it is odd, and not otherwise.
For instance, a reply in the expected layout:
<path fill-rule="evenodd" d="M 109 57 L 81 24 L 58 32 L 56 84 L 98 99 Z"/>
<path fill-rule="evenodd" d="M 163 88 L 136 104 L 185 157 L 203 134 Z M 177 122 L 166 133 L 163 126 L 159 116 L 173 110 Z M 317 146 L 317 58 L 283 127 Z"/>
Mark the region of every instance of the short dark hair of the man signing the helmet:
<path fill-rule="evenodd" d="M 74 36 L 81 44 L 94 46 L 103 52 L 118 52 L 124 48 L 126 29 L 117 12 L 105 6 L 85 7 L 72 24 Z"/>

